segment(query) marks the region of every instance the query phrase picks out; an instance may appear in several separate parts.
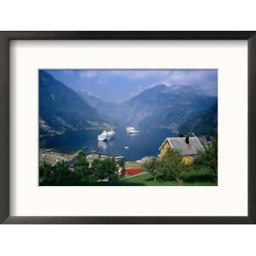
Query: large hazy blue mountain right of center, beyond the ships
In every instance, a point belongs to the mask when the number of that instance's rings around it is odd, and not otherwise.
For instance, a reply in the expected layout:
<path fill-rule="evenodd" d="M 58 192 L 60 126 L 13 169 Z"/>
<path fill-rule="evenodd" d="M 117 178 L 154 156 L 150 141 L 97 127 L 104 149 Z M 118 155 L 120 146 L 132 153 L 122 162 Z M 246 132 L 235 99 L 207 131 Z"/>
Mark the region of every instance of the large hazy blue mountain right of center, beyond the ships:
<path fill-rule="evenodd" d="M 177 132 L 179 125 L 216 102 L 216 97 L 199 87 L 159 84 L 124 102 L 122 108 L 127 111 L 126 125 L 141 129 L 162 126 Z"/>

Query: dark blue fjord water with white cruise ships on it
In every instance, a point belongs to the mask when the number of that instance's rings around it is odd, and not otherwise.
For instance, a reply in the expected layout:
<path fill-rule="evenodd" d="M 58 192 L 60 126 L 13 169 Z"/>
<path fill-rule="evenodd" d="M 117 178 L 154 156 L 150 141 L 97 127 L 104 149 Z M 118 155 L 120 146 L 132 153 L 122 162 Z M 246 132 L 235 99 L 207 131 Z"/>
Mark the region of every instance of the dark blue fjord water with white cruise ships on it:
<path fill-rule="evenodd" d="M 156 156 L 166 137 L 177 136 L 165 128 L 141 131 L 138 134 L 128 134 L 125 127 L 119 127 L 115 131 L 115 137 L 108 142 L 97 141 L 98 134 L 102 132 L 99 130 L 74 131 L 62 136 L 44 137 L 40 139 L 40 148 L 54 148 L 66 153 L 83 150 L 85 154 L 96 150 L 101 154 L 122 155 L 125 160 L 139 160 L 144 156 Z"/>

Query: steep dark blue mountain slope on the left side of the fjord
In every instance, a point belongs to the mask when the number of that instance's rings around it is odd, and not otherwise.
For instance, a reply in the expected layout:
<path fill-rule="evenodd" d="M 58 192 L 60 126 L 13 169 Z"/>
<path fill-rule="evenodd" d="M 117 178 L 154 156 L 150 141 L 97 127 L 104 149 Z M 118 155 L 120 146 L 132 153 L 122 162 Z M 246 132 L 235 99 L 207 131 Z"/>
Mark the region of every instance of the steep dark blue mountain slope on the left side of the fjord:
<path fill-rule="evenodd" d="M 103 125 L 88 103 L 49 73 L 39 73 L 40 137 L 63 134 Z"/>

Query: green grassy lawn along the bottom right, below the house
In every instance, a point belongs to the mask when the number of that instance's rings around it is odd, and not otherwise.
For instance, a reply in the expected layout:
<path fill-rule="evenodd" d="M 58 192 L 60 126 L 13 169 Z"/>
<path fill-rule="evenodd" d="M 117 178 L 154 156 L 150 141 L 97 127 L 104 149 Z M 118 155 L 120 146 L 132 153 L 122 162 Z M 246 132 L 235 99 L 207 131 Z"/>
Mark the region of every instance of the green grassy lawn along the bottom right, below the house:
<path fill-rule="evenodd" d="M 177 181 L 156 181 L 152 180 L 150 173 L 146 172 L 135 177 L 122 178 L 123 185 L 128 186 L 217 186 L 217 183 L 177 183 Z"/>

